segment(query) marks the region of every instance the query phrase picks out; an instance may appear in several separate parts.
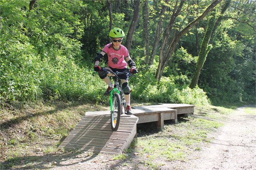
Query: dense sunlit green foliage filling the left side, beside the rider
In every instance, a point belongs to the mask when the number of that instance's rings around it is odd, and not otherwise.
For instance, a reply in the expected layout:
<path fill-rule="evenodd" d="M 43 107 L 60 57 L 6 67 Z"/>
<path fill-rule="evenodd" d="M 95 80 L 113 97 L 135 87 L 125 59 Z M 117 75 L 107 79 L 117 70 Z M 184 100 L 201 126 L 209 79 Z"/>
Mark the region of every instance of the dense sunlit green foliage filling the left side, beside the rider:
<path fill-rule="evenodd" d="M 1 102 L 42 97 L 98 101 L 98 78 L 81 67 L 83 27 L 76 14 L 81 3 L 40 1 L 36 12 L 20 10 L 26 3 L 17 2 L 1 4 Z"/>

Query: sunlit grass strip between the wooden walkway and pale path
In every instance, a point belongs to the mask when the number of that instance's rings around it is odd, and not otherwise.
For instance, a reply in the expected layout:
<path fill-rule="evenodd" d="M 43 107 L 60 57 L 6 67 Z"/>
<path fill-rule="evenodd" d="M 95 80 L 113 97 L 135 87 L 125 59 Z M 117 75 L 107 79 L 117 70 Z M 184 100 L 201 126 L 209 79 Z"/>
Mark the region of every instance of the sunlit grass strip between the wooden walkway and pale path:
<path fill-rule="evenodd" d="M 139 155 L 137 165 L 143 164 L 148 169 L 160 169 L 164 162 L 187 161 L 189 155 L 200 151 L 212 139 L 208 134 L 216 131 L 224 124 L 222 121 L 234 111 L 236 107 L 224 108 L 216 106 L 198 106 L 195 113 L 189 117 L 181 117 L 178 124 L 165 122 L 164 130 L 148 131 L 153 124 L 145 124 L 146 127 L 139 131 L 137 143 L 132 144 L 127 151 Z"/>

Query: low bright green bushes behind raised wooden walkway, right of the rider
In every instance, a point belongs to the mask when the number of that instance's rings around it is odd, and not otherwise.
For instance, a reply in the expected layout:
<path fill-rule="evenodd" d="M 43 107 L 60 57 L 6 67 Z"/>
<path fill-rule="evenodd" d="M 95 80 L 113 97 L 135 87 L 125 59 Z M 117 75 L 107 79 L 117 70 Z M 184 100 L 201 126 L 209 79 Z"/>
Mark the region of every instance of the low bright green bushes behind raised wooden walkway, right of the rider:
<path fill-rule="evenodd" d="M 139 66 L 138 66 L 139 68 Z M 136 77 L 130 78 L 130 86 L 133 89 L 132 98 L 139 101 L 151 101 L 162 103 L 188 103 L 188 104 L 209 104 L 206 93 L 200 88 L 190 89 L 187 85 L 181 86 L 176 82 L 181 82 L 186 76 L 162 77 L 159 84 L 154 78 L 157 65 L 140 70 Z"/>

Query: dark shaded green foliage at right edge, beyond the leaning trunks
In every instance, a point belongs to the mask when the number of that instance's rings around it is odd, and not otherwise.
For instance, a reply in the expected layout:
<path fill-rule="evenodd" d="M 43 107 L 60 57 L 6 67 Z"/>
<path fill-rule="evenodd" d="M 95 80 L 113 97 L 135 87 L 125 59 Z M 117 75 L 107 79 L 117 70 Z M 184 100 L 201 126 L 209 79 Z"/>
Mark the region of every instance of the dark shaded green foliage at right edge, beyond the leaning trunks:
<path fill-rule="evenodd" d="M 207 92 L 214 104 L 254 102 L 255 59 L 252 52 L 254 50 L 251 45 L 248 46 L 243 41 L 234 39 L 232 37 L 234 33 L 225 31 L 226 25 L 233 25 L 233 22 L 226 20 L 219 27 L 213 49 L 204 66 L 205 71 L 200 76 L 200 87 Z M 250 90 L 245 86 L 250 87 Z"/>

